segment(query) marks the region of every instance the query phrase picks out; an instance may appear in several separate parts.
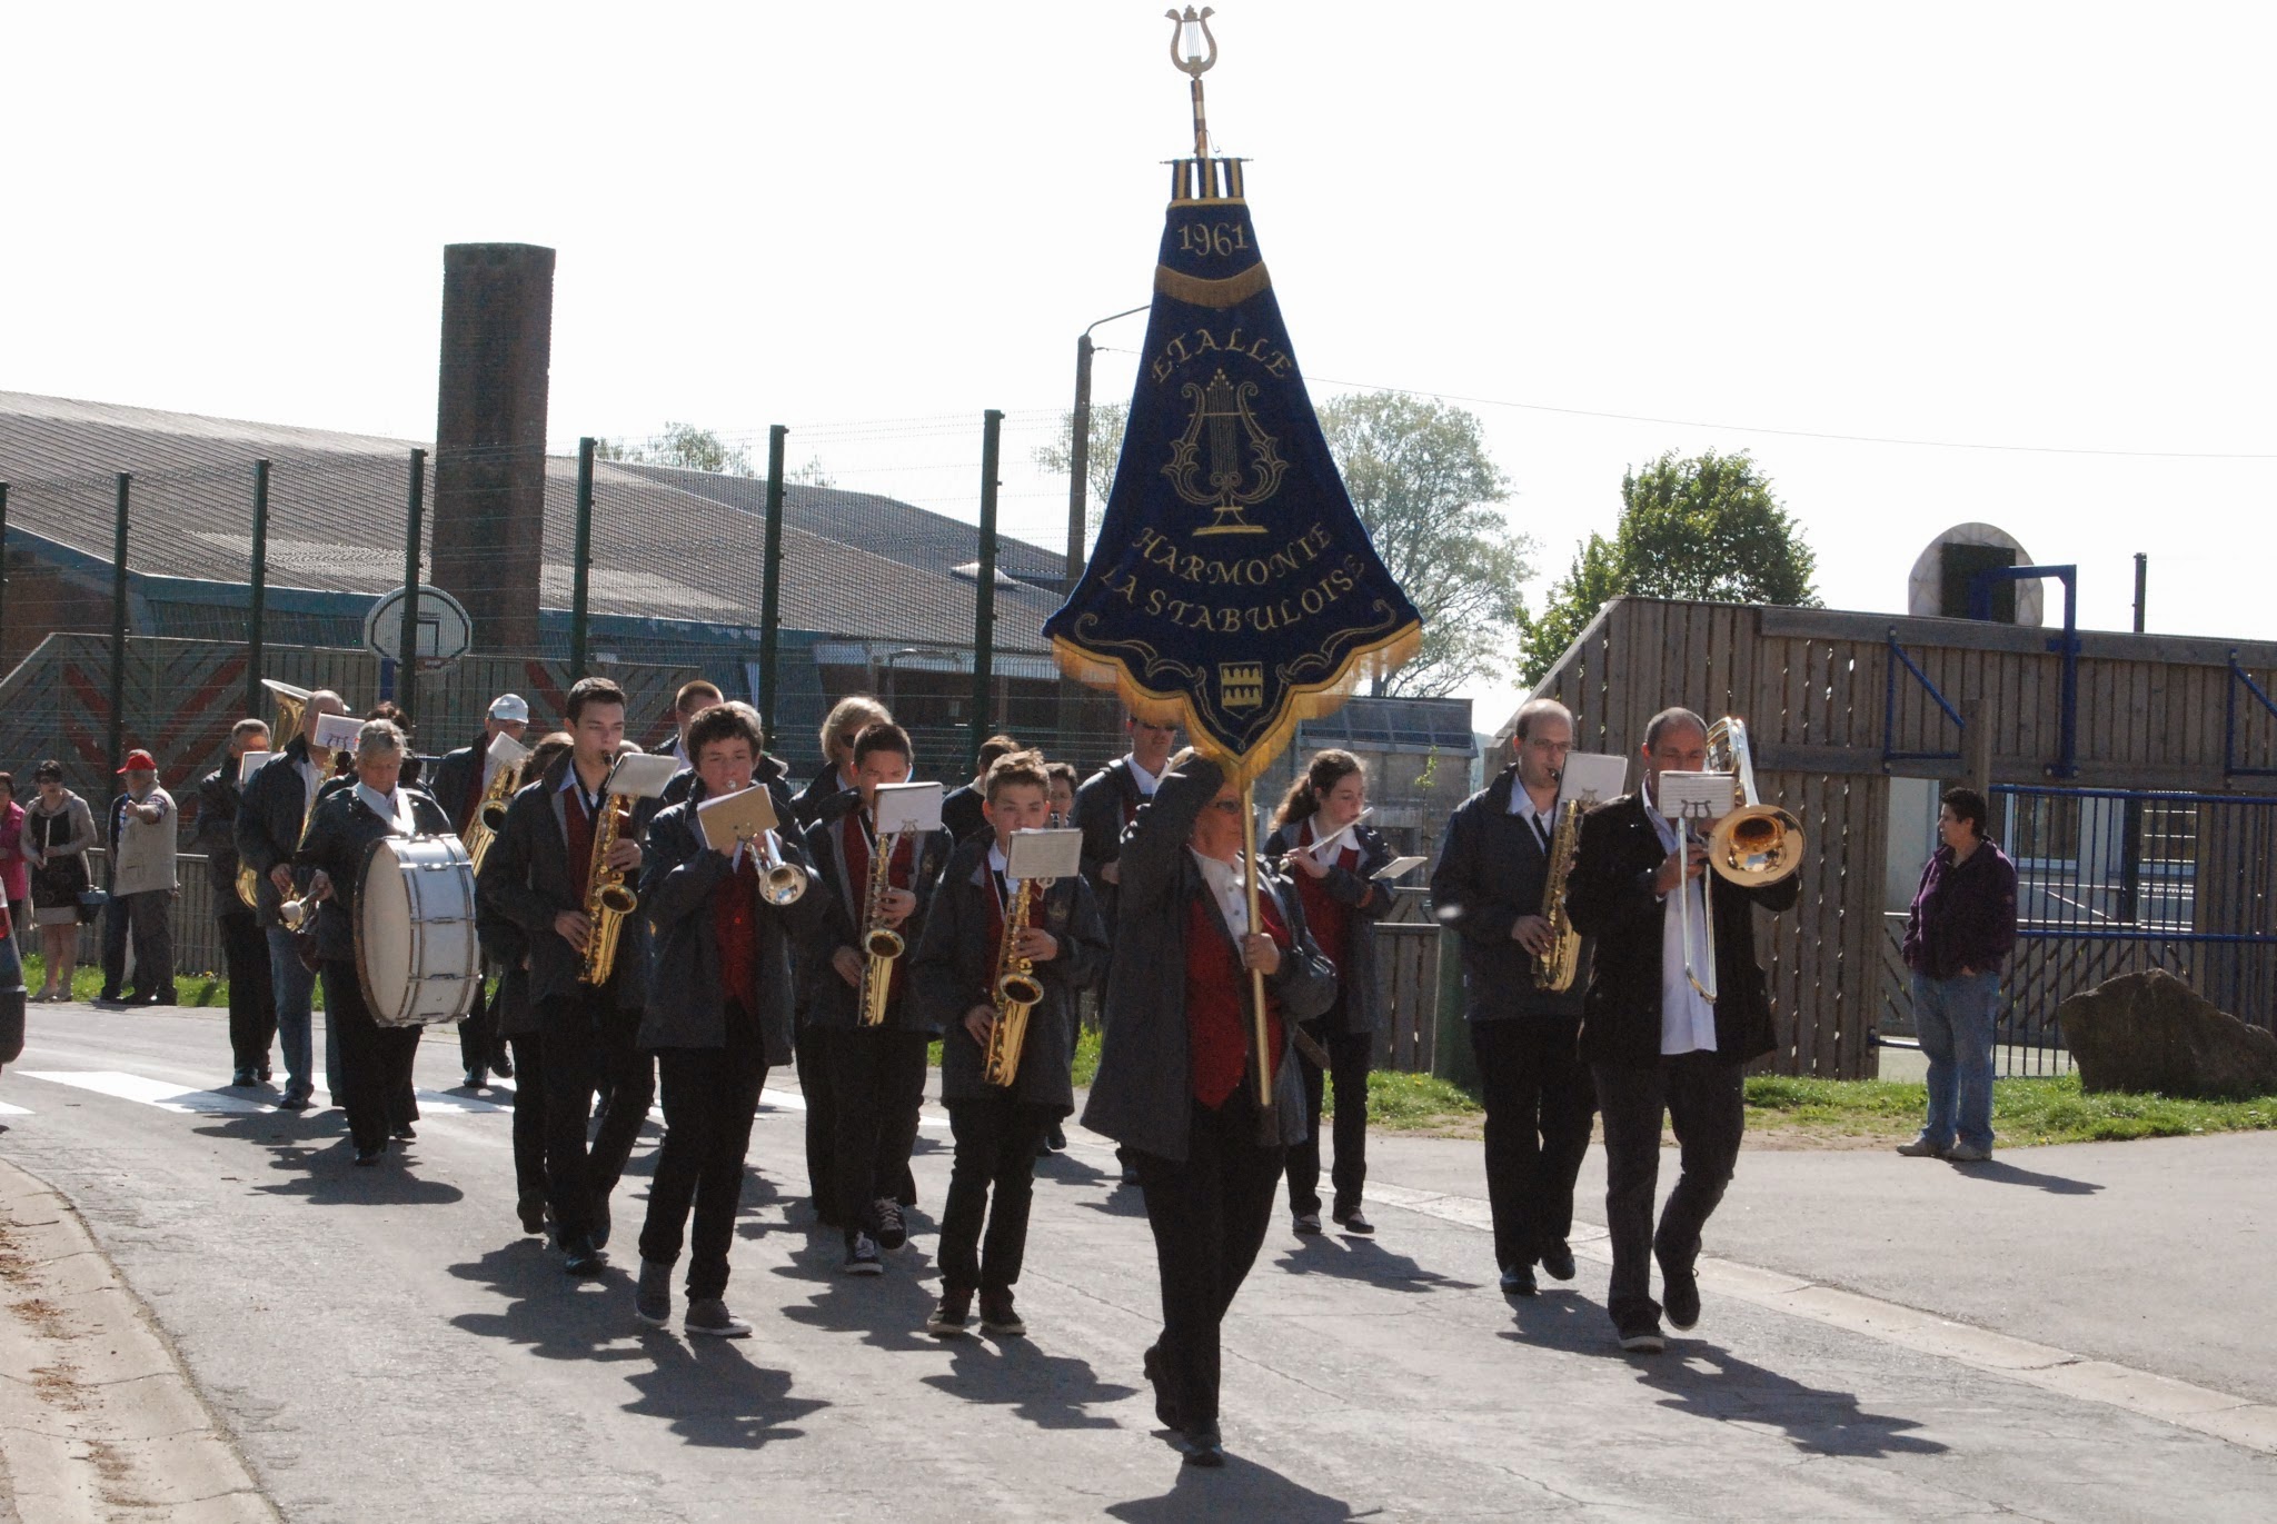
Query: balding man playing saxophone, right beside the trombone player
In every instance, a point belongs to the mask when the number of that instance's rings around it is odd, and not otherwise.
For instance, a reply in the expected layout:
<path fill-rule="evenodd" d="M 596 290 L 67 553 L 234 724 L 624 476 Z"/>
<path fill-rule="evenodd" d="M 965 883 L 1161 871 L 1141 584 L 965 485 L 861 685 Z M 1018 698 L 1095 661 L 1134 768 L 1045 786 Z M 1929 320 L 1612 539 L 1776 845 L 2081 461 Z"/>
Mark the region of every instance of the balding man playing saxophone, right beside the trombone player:
<path fill-rule="evenodd" d="M 1578 1057 L 1583 980 L 1542 989 L 1555 950 L 1544 911 L 1557 777 L 1573 715 L 1555 699 L 1519 708 L 1516 763 L 1464 800 L 1430 875 L 1432 911 L 1462 936 L 1462 1014 L 1487 1103 L 1487 1203 L 1503 1292 L 1532 1296 L 1535 1264 L 1573 1278 L 1573 1178 L 1589 1150 L 1596 1091 Z"/>

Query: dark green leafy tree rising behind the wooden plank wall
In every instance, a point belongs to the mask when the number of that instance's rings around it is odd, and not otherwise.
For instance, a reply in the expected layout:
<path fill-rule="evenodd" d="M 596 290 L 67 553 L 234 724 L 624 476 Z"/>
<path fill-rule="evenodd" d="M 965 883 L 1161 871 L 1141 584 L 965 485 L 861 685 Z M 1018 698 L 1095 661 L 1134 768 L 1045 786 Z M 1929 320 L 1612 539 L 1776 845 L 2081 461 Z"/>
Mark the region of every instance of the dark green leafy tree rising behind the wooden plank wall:
<path fill-rule="evenodd" d="M 1746 451 L 1667 451 L 1621 476 L 1621 524 L 1589 535 L 1551 588 L 1519 652 L 1537 683 L 1589 620 L 1621 595 L 1817 608 L 1817 556 Z"/>

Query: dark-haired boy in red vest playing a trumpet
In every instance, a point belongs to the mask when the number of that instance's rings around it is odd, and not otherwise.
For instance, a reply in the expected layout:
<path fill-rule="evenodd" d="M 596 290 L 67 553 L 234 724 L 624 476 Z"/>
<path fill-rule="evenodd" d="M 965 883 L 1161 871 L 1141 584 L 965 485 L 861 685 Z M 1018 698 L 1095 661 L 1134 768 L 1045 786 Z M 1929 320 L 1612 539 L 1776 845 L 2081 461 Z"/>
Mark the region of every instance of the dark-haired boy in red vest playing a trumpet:
<path fill-rule="evenodd" d="M 656 1055 L 665 1096 L 665 1141 L 640 1230 L 640 1321 L 672 1317 L 672 1267 L 681 1257 L 690 1207 L 688 1333 L 740 1339 L 751 1324 L 726 1310 L 726 1253 L 735 1242 L 742 1162 L 751 1112 L 767 1068 L 790 1059 L 790 950 L 822 916 L 822 895 L 790 904 L 761 895 L 761 843 L 706 845 L 697 806 L 742 793 L 761 759 L 758 713 L 717 704 L 688 727 L 697 781 L 688 800 L 649 822 L 640 907 L 656 948 L 640 1046 Z M 776 836 L 770 831 L 770 836 Z M 806 886 L 806 852 L 788 838 L 767 854 Z"/>

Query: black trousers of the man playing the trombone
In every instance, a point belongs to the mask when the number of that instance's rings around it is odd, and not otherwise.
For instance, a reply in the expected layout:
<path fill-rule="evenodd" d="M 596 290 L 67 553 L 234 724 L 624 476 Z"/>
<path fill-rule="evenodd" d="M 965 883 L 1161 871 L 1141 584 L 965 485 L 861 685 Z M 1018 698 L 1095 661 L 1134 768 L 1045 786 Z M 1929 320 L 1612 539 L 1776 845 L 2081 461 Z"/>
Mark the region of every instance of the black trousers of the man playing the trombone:
<path fill-rule="evenodd" d="M 1746 1091 L 1740 1064 L 1712 1052 L 1683 1052 L 1653 1068 L 1596 1064 L 1596 1105 L 1605 1112 L 1605 1228 L 1612 1230 L 1612 1287 L 1605 1310 L 1628 1326 L 1660 1317 L 1653 1267 L 1692 1269 L 1701 1228 L 1740 1160 L 1746 1130 Z M 1683 1173 L 1653 1230 L 1653 1189 L 1660 1182 L 1660 1114 L 1676 1128 Z"/>

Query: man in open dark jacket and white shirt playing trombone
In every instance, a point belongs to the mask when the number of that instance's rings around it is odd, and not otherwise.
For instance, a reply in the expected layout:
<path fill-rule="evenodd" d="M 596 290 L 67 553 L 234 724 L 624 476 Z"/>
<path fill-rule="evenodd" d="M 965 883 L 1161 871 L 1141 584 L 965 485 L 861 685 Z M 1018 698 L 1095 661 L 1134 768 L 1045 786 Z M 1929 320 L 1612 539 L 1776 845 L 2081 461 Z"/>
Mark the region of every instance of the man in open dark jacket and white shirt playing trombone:
<path fill-rule="evenodd" d="M 1708 740 L 1708 722 L 1690 708 L 1651 718 L 1642 788 L 1583 820 L 1567 884 L 1573 929 L 1596 939 L 1580 1055 L 1605 1119 L 1605 1310 L 1633 1353 L 1664 1349 L 1662 1305 L 1678 1330 L 1699 1321 L 1701 1228 L 1731 1182 L 1746 1121 L 1740 1071 L 1774 1046 L 1753 911 L 1792 909 L 1799 888 L 1792 870 L 1751 886 L 1705 872 L 1708 845 L 1664 818 L 1662 779 L 1705 770 Z M 1744 745 L 1740 759 L 1746 777 Z M 1676 1128 L 1683 1175 L 1655 1232 L 1662 1114 Z M 1660 1260 L 1660 1303 L 1646 1253 Z"/>

